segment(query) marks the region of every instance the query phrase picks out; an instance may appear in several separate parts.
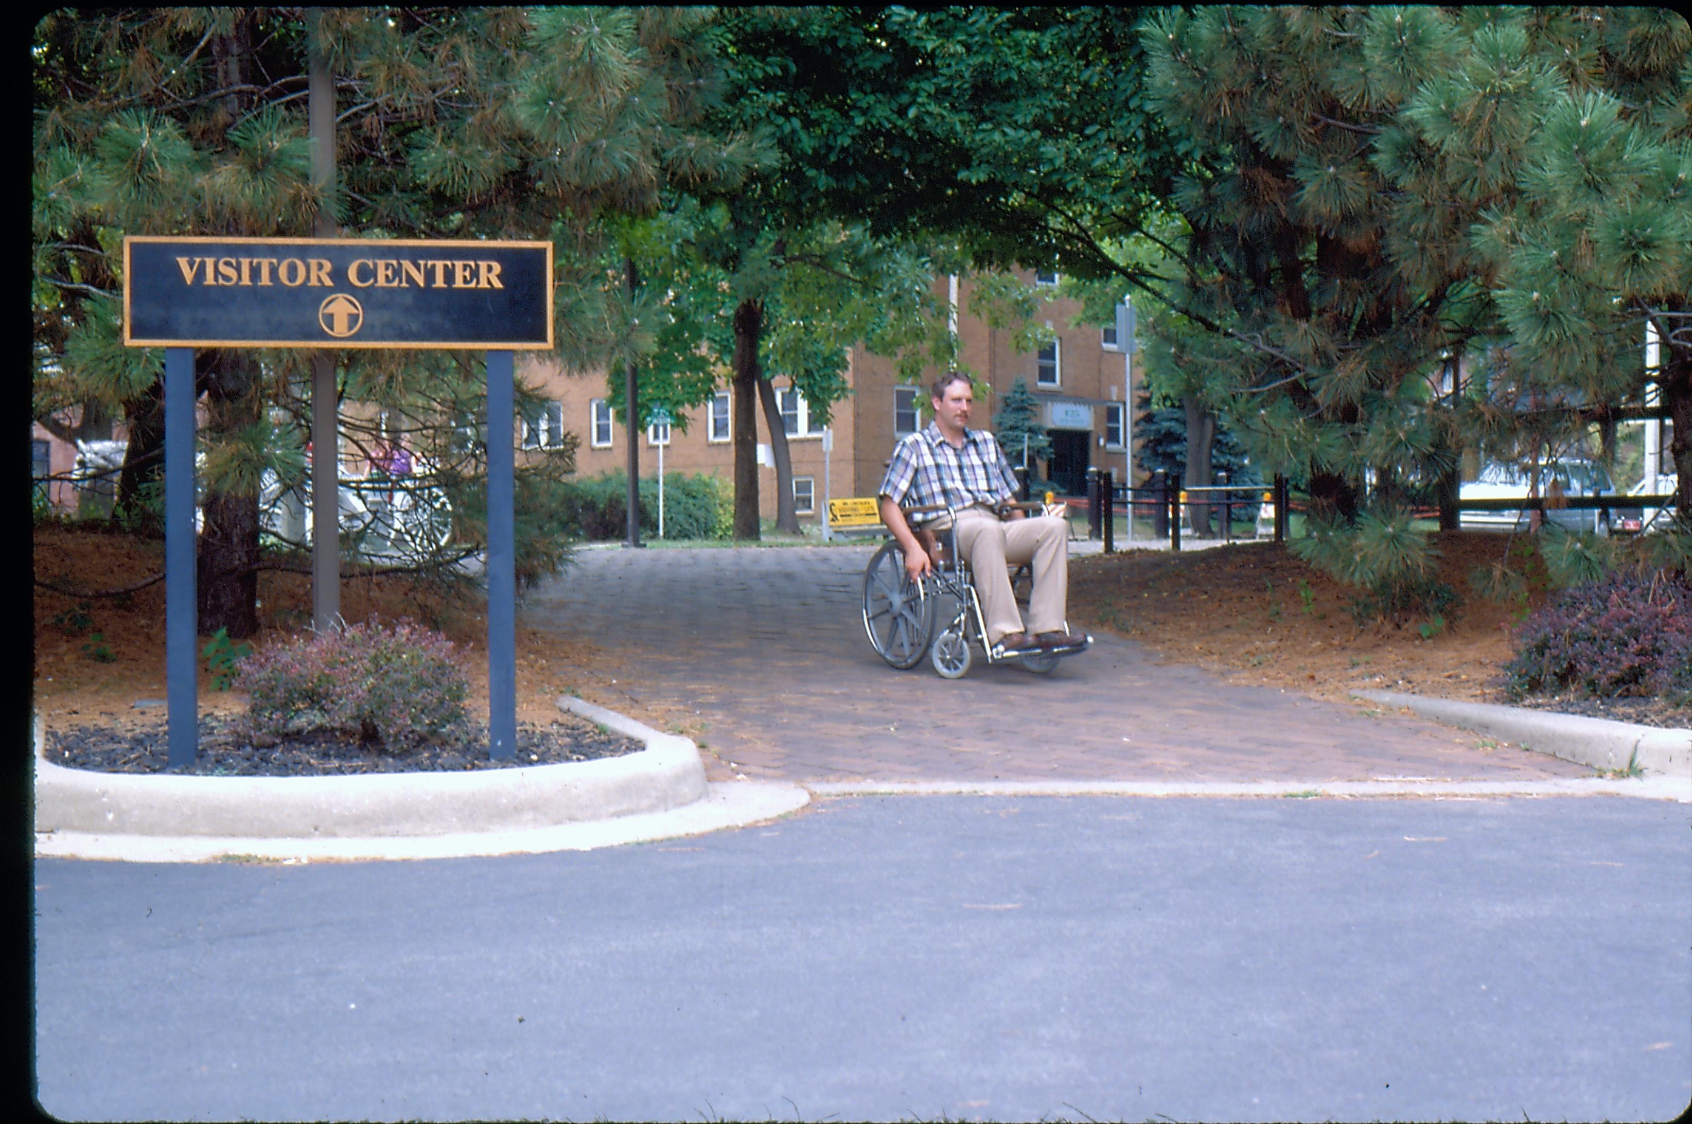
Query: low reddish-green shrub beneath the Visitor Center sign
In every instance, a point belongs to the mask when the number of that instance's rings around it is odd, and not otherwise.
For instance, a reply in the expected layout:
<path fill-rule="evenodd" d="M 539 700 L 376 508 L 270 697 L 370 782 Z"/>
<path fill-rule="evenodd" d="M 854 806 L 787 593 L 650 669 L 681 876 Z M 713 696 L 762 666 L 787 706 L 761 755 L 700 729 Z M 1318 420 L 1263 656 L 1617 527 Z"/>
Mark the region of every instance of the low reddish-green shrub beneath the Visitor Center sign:
<path fill-rule="evenodd" d="M 465 736 L 469 682 L 452 642 L 409 621 L 301 636 L 240 662 L 249 733 L 337 730 L 401 750 Z"/>

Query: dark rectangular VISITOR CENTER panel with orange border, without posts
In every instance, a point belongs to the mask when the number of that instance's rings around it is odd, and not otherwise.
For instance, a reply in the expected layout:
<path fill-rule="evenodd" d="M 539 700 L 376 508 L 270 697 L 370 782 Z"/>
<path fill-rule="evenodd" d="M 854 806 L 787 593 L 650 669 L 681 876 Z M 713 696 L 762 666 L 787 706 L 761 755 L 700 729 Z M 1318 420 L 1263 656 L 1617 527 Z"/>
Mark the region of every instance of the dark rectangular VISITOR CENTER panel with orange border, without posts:
<path fill-rule="evenodd" d="M 127 347 L 550 349 L 552 242 L 124 239 Z"/>

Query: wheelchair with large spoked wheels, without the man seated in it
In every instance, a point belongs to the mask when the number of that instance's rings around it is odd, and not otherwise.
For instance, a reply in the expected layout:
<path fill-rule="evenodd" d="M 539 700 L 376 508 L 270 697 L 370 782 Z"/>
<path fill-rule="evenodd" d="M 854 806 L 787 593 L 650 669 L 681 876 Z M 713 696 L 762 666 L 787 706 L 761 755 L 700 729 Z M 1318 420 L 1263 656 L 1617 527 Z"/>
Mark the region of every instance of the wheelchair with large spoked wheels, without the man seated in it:
<path fill-rule="evenodd" d="M 1005 508 L 1044 513 L 1044 504 L 1039 503 L 1012 503 Z M 975 648 L 980 648 L 990 665 L 1022 664 L 1030 672 L 1047 674 L 1058 667 L 1058 660 L 1079 655 L 1093 645 L 1091 636 L 1068 648 L 1037 652 L 1005 652 L 986 643 L 986 621 L 975 592 L 975 576 L 958 552 L 958 510 L 934 504 L 904 511 L 907 516 L 944 511 L 949 525 L 941 532 L 944 540 L 937 542 L 937 550 L 931 550 L 934 569 L 920 581 L 912 581 L 905 570 L 905 550 L 897 538 L 882 543 L 865 567 L 863 630 L 870 636 L 870 647 L 888 665 L 909 670 L 922 657 L 929 657 L 942 677 L 963 679 L 975 662 Z M 917 532 L 917 540 L 924 542 L 927 535 L 931 533 Z M 1012 576 L 1014 591 L 1024 577 L 1032 582 L 1027 565 Z M 1066 621 L 1064 631 L 1068 630 Z"/>

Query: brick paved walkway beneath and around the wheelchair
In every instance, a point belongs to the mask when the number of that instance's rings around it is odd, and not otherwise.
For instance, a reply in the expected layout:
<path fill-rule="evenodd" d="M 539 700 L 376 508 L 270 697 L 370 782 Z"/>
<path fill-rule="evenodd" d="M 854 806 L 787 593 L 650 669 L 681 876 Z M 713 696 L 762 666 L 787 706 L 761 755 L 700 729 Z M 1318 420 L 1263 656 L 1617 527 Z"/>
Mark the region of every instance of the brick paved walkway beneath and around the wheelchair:
<path fill-rule="evenodd" d="M 1230 686 L 1098 636 L 1051 675 L 897 672 L 860 620 L 868 547 L 584 550 L 523 621 L 640 669 L 697 711 L 712 780 L 1536 780 L 1580 765 L 1404 716 Z M 619 689 L 624 686 L 619 684 Z"/>

